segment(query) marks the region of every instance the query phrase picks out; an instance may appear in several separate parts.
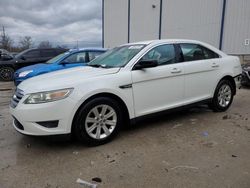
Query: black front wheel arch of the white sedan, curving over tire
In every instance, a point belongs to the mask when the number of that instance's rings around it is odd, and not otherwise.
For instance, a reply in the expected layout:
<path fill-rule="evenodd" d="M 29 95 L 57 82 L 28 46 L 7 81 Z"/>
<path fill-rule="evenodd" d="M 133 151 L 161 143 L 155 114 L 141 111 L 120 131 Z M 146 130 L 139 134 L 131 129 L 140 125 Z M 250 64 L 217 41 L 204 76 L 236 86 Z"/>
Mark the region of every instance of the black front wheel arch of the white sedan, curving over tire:
<path fill-rule="evenodd" d="M 80 109 L 86 105 L 89 101 L 95 99 L 95 98 L 99 98 L 99 97 L 108 97 L 108 98 L 111 98 L 113 100 L 116 100 L 118 103 L 119 103 L 119 106 L 121 107 L 121 110 L 124 112 L 124 121 L 125 121 L 125 124 L 129 123 L 129 119 L 130 119 L 130 116 L 129 116 L 129 111 L 128 111 L 128 107 L 126 105 L 126 103 L 117 95 L 113 94 L 113 93 L 109 93 L 109 92 L 102 92 L 102 93 L 98 93 L 98 94 L 94 94 L 90 97 L 88 97 L 86 100 L 84 100 L 84 102 L 78 107 L 78 109 L 76 110 L 75 114 L 74 114 L 74 117 L 73 117 L 73 121 L 72 121 L 72 126 L 71 126 L 71 132 L 72 130 L 74 129 L 74 124 L 75 124 L 75 121 L 76 121 L 76 117 L 77 117 L 77 114 L 79 113 Z"/>

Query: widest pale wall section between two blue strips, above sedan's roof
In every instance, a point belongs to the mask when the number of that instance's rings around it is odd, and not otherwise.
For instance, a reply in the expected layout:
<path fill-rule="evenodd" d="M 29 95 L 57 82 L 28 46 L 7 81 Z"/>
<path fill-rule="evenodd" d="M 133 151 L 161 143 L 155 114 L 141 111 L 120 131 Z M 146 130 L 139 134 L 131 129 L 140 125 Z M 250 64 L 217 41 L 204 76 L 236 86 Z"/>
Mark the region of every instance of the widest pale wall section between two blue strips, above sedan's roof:
<path fill-rule="evenodd" d="M 196 39 L 219 47 L 222 0 L 163 0 L 162 38 Z"/>

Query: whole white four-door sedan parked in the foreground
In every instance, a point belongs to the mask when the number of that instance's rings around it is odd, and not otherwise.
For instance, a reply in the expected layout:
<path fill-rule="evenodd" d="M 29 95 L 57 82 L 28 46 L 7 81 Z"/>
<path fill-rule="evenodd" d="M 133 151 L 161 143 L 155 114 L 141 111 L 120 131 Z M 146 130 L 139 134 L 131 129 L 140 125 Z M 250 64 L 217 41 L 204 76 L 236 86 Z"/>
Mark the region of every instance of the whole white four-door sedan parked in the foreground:
<path fill-rule="evenodd" d="M 10 112 L 23 134 L 72 133 L 80 141 L 103 144 L 128 120 L 197 102 L 227 110 L 241 72 L 237 57 L 199 41 L 130 43 L 86 67 L 24 81 Z"/>

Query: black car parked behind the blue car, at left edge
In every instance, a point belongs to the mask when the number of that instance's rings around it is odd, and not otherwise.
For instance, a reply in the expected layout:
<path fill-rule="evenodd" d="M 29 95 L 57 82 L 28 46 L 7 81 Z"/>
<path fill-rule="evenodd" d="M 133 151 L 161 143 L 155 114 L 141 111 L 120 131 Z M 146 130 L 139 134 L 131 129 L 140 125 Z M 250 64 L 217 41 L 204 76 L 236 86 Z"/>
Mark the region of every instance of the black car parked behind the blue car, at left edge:
<path fill-rule="evenodd" d="M 17 69 L 37 63 L 44 63 L 67 50 L 64 48 L 32 48 L 24 50 L 7 61 L 0 61 L 0 80 L 11 81 Z"/>

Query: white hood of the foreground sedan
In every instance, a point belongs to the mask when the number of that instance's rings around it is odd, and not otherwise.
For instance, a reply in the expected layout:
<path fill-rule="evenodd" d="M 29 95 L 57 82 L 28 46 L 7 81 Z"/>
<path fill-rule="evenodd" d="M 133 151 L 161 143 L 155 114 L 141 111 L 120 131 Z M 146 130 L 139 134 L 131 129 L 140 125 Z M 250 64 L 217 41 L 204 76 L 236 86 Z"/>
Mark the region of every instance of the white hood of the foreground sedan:
<path fill-rule="evenodd" d="M 120 68 L 75 67 L 51 72 L 23 81 L 18 88 L 27 93 L 49 91 L 74 87 L 75 85 L 94 77 L 115 74 Z"/>

